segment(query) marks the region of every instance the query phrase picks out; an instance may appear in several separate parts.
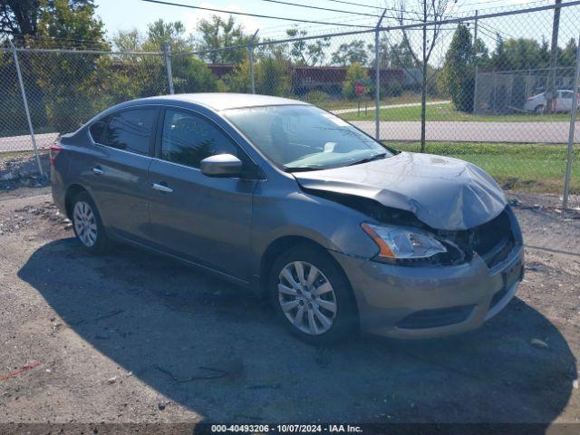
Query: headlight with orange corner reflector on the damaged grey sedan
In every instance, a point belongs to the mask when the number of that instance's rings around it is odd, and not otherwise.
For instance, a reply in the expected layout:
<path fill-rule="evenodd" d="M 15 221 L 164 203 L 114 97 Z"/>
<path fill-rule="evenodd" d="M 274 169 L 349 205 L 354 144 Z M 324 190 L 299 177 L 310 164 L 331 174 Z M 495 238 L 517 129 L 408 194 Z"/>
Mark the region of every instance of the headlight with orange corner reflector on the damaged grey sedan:
<path fill-rule="evenodd" d="M 439 240 L 410 227 L 362 224 L 362 229 L 379 246 L 379 258 L 387 260 L 429 258 L 447 252 Z"/>

